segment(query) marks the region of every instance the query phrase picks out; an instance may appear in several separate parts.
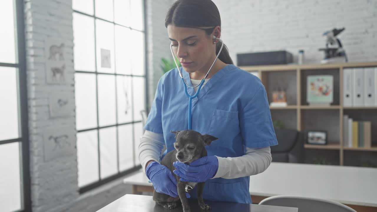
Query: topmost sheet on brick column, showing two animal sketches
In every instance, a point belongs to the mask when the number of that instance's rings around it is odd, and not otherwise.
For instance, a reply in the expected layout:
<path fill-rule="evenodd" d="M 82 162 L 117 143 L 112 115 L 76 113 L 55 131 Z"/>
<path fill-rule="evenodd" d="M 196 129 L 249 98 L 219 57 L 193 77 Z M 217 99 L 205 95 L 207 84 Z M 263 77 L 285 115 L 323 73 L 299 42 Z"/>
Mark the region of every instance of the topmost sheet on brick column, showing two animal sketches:
<path fill-rule="evenodd" d="M 44 40 L 44 57 L 46 61 L 46 83 L 66 83 L 66 58 L 64 42 L 56 39 Z"/>

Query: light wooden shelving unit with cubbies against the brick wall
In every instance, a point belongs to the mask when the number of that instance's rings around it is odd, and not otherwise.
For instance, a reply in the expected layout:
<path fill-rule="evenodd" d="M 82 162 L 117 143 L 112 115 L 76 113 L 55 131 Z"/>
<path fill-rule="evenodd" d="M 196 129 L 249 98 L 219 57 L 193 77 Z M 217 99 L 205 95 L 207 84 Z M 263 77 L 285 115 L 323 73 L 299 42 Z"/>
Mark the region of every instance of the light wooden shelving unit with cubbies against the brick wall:
<path fill-rule="evenodd" d="M 360 62 L 360 63 L 337 63 L 337 64 L 310 64 L 310 65 L 272 65 L 272 66 L 240 66 L 249 72 L 258 72 L 259 78 L 264 84 L 269 102 L 271 102 L 272 89 L 277 82 L 284 81 L 288 86 L 288 94 L 291 98 L 287 99 L 287 107 L 271 107 L 271 115 L 281 117 L 280 119 L 289 119 L 290 126 L 295 126 L 298 131 L 314 130 L 308 129 L 313 119 L 322 117 L 323 127 L 328 128 L 328 137 L 330 141 L 327 145 L 305 144 L 305 149 L 311 150 L 333 150 L 339 151 L 339 164 L 344 164 L 345 151 L 365 151 L 377 152 L 377 106 L 372 107 L 343 107 L 343 69 L 356 67 L 377 67 L 377 62 Z M 310 106 L 306 102 L 306 77 L 314 74 L 331 74 L 334 76 L 334 102 L 330 106 Z M 275 87 L 276 88 L 276 87 Z M 364 115 L 360 115 L 363 111 Z M 321 114 L 323 113 L 323 114 Z M 343 115 L 351 113 L 354 120 L 363 118 L 372 121 L 372 147 L 371 148 L 354 148 L 343 146 Z M 366 114 L 366 115 L 365 115 Z M 293 117 L 293 116 L 296 117 Z M 274 118 L 273 118 L 274 119 Z M 320 129 L 318 129 L 320 130 Z M 377 155 L 374 159 L 377 161 Z"/>

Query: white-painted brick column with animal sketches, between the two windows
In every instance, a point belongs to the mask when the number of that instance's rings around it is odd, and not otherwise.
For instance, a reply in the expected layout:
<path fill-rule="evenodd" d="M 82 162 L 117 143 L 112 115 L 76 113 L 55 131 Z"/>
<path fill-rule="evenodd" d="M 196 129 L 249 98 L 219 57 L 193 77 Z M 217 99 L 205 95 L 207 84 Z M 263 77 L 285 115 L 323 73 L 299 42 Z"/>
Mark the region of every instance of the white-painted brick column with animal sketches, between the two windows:
<path fill-rule="evenodd" d="M 71 0 L 25 0 L 26 68 L 28 76 L 31 199 L 33 212 L 58 211 L 57 208 L 79 197 L 75 125 L 73 31 Z M 65 83 L 49 84 L 44 42 L 64 42 Z M 47 73 L 47 74 L 46 74 Z M 51 97 L 64 93 L 69 114 L 52 117 Z M 64 132 L 60 129 L 64 128 Z M 68 136 L 63 149 L 51 154 L 46 145 L 46 130 Z M 63 145 L 63 144 L 62 144 Z M 54 145 L 53 145 L 54 146 Z M 59 152 L 60 151 L 60 152 Z M 64 152 L 61 152 L 64 151 Z M 55 154 L 55 153 L 54 153 Z"/>

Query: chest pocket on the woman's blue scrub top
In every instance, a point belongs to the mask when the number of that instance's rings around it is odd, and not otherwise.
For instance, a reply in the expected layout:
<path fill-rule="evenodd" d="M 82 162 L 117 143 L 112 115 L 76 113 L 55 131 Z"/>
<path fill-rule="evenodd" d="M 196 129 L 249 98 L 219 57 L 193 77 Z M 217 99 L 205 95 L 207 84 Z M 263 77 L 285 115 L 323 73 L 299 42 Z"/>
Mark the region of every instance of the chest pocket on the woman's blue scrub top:
<path fill-rule="evenodd" d="M 219 138 L 210 146 L 233 147 L 233 140 L 239 134 L 238 112 L 214 109 L 209 135 Z"/>

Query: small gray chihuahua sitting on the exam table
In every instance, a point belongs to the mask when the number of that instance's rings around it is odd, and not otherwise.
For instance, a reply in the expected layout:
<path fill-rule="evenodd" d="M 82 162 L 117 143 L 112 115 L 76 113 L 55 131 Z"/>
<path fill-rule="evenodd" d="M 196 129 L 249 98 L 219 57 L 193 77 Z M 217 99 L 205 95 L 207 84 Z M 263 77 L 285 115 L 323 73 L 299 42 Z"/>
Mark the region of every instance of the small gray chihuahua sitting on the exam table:
<path fill-rule="evenodd" d="M 180 181 L 180 177 L 173 173 L 175 161 L 180 161 L 185 164 L 190 164 L 192 161 L 207 156 L 207 150 L 204 148 L 211 144 L 212 141 L 218 139 L 212 135 L 202 135 L 199 132 L 193 130 L 183 131 L 170 131 L 175 133 L 175 150 L 168 152 L 161 160 L 161 164 L 166 166 L 177 180 L 178 197 L 171 197 L 167 194 L 161 194 L 153 190 L 153 200 L 156 204 L 163 206 L 166 209 L 174 209 L 178 206 L 179 200 L 181 200 L 183 211 L 190 212 L 189 201 L 186 197 L 186 187 L 191 187 L 189 190 L 198 186 L 198 203 L 201 209 L 210 210 L 211 207 L 203 201 L 203 189 L 204 182 L 202 183 L 190 183 Z M 187 186 L 188 185 L 188 186 Z"/>

